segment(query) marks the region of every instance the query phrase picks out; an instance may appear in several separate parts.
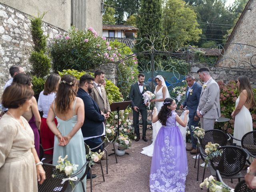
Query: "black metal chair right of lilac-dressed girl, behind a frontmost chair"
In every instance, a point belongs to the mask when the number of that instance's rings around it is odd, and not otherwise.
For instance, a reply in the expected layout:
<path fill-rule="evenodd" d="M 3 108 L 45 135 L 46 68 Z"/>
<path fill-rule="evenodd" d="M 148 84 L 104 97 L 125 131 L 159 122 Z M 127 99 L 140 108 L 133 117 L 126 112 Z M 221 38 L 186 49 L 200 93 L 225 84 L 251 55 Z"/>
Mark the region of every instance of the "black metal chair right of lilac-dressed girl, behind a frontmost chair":
<path fill-rule="evenodd" d="M 212 130 L 208 130 L 205 132 L 204 138 L 199 139 L 199 154 L 200 154 L 200 158 L 204 161 L 205 158 L 207 157 L 207 155 L 205 154 L 204 150 L 205 150 L 205 146 L 208 144 L 208 142 L 212 142 L 219 144 L 220 146 L 225 146 L 228 142 L 228 137 L 227 135 L 221 131 L 221 130 L 217 130 L 217 129 L 212 129 Z M 196 152 L 196 157 L 197 157 L 197 152 Z M 196 160 L 195 160 L 195 165 L 194 168 L 196 167 Z M 199 159 L 198 159 L 198 167 L 197 167 L 197 178 L 196 180 L 198 181 L 198 174 L 199 174 Z M 205 168 L 204 168 L 204 174 L 205 174 Z M 203 174 L 203 180 L 204 181 L 204 174 Z"/>

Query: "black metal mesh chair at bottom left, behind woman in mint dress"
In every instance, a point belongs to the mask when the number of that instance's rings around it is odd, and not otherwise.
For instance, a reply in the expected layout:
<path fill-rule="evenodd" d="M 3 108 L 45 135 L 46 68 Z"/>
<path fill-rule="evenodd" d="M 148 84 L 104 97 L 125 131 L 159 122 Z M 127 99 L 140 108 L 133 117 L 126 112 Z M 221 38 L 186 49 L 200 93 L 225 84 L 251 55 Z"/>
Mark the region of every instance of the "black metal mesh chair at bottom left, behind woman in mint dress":
<path fill-rule="evenodd" d="M 38 183 L 38 192 L 73 192 L 79 182 L 82 184 L 83 192 L 86 191 L 82 180 L 88 172 L 88 161 L 82 166 L 80 170 L 78 170 L 78 172 L 71 176 L 71 178 L 73 178 L 85 170 L 81 178 L 78 178 L 77 181 L 73 181 L 74 188 L 70 186 L 68 181 L 64 182 L 64 184 L 61 184 L 62 179 L 67 178 L 64 171 L 60 172 L 60 170 L 56 170 L 56 166 L 52 164 L 43 164 L 43 168 L 46 173 L 46 180 L 44 180 L 42 184 Z"/>

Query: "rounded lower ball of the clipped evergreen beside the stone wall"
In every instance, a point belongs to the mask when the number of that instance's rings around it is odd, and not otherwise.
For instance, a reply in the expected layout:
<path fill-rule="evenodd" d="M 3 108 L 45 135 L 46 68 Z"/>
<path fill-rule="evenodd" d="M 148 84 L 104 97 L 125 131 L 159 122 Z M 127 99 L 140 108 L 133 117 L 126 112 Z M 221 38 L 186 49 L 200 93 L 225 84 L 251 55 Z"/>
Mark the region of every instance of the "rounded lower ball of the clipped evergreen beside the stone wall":
<path fill-rule="evenodd" d="M 50 73 L 51 59 L 42 50 L 33 51 L 29 61 L 32 63 L 31 74 L 37 77 L 45 77 Z"/>

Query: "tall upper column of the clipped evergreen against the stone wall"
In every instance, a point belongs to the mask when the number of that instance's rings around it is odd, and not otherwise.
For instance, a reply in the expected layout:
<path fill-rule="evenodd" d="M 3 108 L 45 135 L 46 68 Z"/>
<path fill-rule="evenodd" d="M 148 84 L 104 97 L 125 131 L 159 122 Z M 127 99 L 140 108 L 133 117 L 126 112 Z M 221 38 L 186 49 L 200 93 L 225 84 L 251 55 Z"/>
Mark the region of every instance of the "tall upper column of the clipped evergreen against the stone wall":
<path fill-rule="evenodd" d="M 40 51 L 42 50 L 43 52 L 46 51 L 46 40 L 47 36 L 44 35 L 44 31 L 42 30 L 42 18 L 46 12 L 44 12 L 41 16 L 37 16 L 35 18 L 30 18 L 31 26 L 30 26 L 30 31 L 32 35 L 32 40 L 34 42 L 34 50 L 35 51 Z"/>

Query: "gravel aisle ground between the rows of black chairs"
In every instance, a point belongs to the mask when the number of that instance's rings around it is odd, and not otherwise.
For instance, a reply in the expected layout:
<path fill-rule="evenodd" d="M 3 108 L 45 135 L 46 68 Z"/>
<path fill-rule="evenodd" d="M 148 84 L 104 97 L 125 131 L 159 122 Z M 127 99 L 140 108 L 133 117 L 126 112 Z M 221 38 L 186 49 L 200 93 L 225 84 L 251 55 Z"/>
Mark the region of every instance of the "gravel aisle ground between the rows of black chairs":
<path fill-rule="evenodd" d="M 142 134 L 141 134 L 142 135 Z M 151 144 L 152 131 L 147 130 L 148 142 L 140 141 L 132 142 L 132 149 L 126 150 L 130 153 L 124 156 L 117 157 L 116 164 L 115 156 L 108 157 L 108 174 L 106 174 L 106 160 L 102 160 L 105 182 L 103 182 L 100 164 L 96 164 L 92 171 L 98 177 L 93 180 L 93 192 L 149 192 L 149 174 L 151 157 L 140 154 L 142 148 Z M 187 143 L 190 146 L 190 143 Z M 108 154 L 112 153 L 113 146 L 110 145 L 107 150 Z M 201 190 L 199 184 L 202 181 L 203 168 L 199 168 L 199 181 L 196 181 L 197 168 L 194 168 L 194 159 L 189 152 L 188 158 L 188 176 L 186 179 L 186 192 L 204 192 L 206 188 Z M 201 162 L 202 163 L 202 160 Z M 242 171 L 245 174 L 245 171 Z M 210 171 L 206 169 L 206 177 L 210 176 Z M 226 184 L 233 187 L 238 183 L 238 180 L 224 180 Z M 87 180 L 87 192 L 90 192 L 90 180 Z"/>

